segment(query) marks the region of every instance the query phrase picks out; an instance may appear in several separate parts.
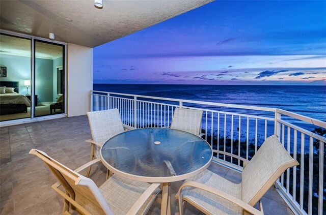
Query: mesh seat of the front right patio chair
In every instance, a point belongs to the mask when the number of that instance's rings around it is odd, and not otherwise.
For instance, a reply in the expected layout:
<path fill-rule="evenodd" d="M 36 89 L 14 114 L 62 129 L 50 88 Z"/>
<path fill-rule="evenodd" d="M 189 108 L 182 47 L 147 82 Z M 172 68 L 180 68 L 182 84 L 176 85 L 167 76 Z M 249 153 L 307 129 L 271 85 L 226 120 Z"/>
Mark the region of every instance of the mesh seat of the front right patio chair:
<path fill-rule="evenodd" d="M 209 170 L 205 170 L 186 181 L 196 181 L 207 186 L 224 191 L 238 199 L 241 199 L 241 183 L 233 183 Z M 185 182 L 186 182 L 185 181 Z M 211 214 L 242 214 L 242 208 L 230 201 L 212 193 L 193 187 L 182 189 L 182 198 L 187 202 L 196 202 Z"/>

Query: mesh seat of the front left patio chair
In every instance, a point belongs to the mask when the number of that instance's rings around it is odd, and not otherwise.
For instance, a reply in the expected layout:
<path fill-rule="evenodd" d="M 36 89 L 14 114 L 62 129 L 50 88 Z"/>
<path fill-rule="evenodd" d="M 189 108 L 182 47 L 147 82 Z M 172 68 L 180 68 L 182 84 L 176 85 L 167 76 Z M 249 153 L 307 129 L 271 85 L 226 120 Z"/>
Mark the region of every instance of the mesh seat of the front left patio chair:
<path fill-rule="evenodd" d="M 110 180 L 107 180 L 101 187 L 100 192 L 104 196 L 112 211 L 116 214 L 126 214 L 135 201 L 150 186 L 149 183 L 133 181 L 114 174 Z M 143 204 L 137 214 L 146 214 L 149 206 L 153 203 L 161 189 L 157 188 L 152 195 Z"/>

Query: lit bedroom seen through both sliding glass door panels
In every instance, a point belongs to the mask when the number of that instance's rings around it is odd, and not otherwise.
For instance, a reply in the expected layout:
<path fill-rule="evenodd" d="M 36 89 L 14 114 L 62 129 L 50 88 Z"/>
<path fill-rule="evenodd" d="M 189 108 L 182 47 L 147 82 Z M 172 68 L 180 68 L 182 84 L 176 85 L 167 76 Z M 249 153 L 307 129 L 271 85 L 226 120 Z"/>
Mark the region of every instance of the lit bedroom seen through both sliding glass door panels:
<path fill-rule="evenodd" d="M 63 59 L 62 45 L 1 35 L 0 121 L 64 113 Z"/>

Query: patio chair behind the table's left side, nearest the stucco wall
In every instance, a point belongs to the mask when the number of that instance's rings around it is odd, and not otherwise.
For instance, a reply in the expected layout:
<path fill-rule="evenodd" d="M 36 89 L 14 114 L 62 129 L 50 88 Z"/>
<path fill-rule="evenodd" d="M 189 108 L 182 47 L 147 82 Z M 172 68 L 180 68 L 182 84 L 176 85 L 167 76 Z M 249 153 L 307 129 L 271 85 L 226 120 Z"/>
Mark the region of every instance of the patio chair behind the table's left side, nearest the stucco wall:
<path fill-rule="evenodd" d="M 100 158 L 100 148 L 106 140 L 124 132 L 118 109 L 87 112 L 92 139 L 85 142 L 91 143 L 91 161 Z M 86 176 L 89 177 L 91 166 Z"/>

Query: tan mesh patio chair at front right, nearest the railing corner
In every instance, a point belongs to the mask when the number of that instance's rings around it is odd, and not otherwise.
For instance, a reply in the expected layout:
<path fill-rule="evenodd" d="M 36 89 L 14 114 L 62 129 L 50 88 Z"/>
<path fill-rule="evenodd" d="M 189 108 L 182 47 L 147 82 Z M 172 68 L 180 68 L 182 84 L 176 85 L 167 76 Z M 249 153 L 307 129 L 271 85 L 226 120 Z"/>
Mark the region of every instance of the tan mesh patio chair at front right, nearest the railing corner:
<path fill-rule="evenodd" d="M 187 179 L 176 196 L 180 215 L 186 202 L 206 214 L 263 214 L 260 199 L 287 168 L 298 165 L 276 135 L 265 140 L 250 162 L 218 152 L 243 161 L 241 182 L 233 183 L 209 170 Z M 257 202 L 260 210 L 254 208 Z"/>

